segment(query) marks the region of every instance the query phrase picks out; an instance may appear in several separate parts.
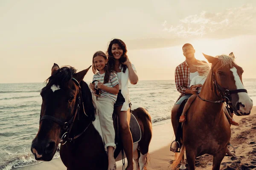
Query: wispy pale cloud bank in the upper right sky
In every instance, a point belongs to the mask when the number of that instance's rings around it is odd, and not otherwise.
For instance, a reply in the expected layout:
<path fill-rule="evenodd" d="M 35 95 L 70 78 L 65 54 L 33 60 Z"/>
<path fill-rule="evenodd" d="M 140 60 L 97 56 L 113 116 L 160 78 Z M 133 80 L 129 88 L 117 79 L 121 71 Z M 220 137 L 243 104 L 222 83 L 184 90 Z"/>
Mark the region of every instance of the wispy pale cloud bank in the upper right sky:
<path fill-rule="evenodd" d="M 179 21 L 177 25 L 162 24 L 162 31 L 172 38 L 229 38 L 256 34 L 256 7 L 251 4 L 213 13 L 201 11 Z"/>

